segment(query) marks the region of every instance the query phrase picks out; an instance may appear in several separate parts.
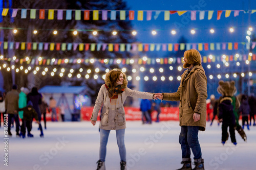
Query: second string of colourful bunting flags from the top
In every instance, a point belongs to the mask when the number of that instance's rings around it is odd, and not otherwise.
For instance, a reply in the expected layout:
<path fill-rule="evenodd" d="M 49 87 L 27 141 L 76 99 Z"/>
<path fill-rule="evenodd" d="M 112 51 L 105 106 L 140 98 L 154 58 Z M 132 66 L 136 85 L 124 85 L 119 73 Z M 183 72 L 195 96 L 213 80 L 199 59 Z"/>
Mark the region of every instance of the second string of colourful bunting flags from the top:
<path fill-rule="evenodd" d="M 198 51 L 215 51 L 215 50 L 238 50 L 239 48 L 246 48 L 247 50 L 251 47 L 252 49 L 255 48 L 256 42 L 210 42 L 210 43 L 60 43 L 60 42 L 9 42 L 9 41 L 0 41 L 1 44 L 4 44 L 5 49 L 15 49 L 15 50 L 50 50 L 50 51 L 70 51 L 70 50 L 76 50 L 77 46 L 79 45 L 78 49 L 79 51 L 88 51 L 94 49 L 97 46 L 97 51 L 105 51 L 105 49 L 108 47 L 108 50 L 110 52 L 112 51 L 120 51 L 124 52 L 125 49 L 127 52 L 130 50 L 132 51 L 183 51 L 183 50 L 190 50 L 190 49 L 197 49 Z M 11 44 L 8 45 L 8 44 Z M 21 46 L 19 44 L 22 44 Z M 48 45 L 50 44 L 50 48 L 48 49 Z M 37 47 L 38 45 L 38 47 Z M 94 47 L 92 48 L 92 45 Z M 43 49 L 44 46 L 44 49 Z M 72 48 L 73 47 L 73 48 Z M 102 48 L 101 48 L 102 47 Z M 93 51 L 94 51 L 93 50 Z"/>

